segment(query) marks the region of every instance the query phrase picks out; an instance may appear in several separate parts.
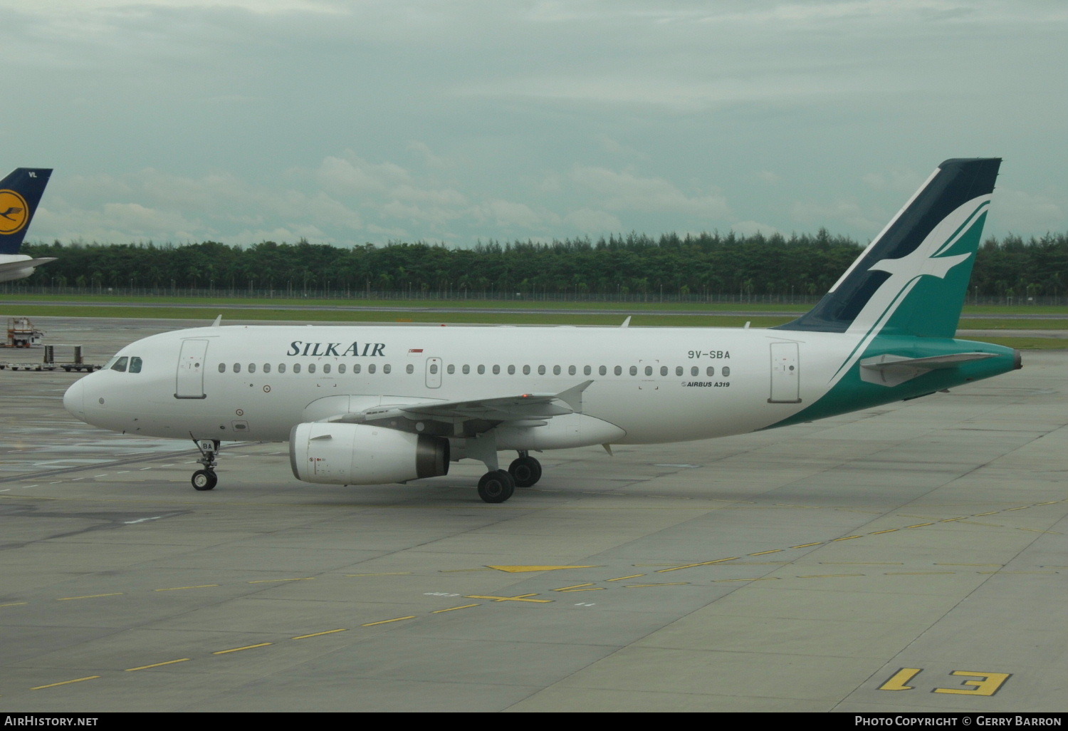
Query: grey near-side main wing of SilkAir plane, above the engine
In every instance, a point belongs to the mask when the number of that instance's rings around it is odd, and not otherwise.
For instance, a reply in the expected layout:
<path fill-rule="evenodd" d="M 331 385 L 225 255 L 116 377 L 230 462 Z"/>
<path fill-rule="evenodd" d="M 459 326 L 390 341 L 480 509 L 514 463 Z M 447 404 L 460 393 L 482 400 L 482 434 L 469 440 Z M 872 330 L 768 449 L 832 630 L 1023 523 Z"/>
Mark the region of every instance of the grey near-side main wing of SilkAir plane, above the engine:
<path fill-rule="evenodd" d="M 403 417 L 455 423 L 470 419 L 496 422 L 551 419 L 565 414 L 581 414 L 582 392 L 592 383 L 593 380 L 584 380 L 560 393 L 517 393 L 470 401 L 427 401 L 374 406 L 358 414 L 347 414 L 337 420 L 368 422 Z"/>

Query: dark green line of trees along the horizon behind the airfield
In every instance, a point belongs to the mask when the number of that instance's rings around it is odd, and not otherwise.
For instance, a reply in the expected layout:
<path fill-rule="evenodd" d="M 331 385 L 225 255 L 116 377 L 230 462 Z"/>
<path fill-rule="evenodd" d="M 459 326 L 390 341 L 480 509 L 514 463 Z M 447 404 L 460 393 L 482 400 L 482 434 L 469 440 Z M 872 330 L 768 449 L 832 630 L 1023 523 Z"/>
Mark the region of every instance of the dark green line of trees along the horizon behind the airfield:
<path fill-rule="evenodd" d="M 837 280 L 861 245 L 821 229 L 815 235 L 631 233 L 596 240 L 488 242 L 450 248 L 425 242 L 340 247 L 262 242 L 187 245 L 27 244 L 54 256 L 26 286 L 134 290 L 270 291 L 375 296 L 428 292 L 450 296 L 574 295 L 612 298 L 815 296 Z M 11 284 L 19 285 L 18 282 Z M 1061 297 L 1068 285 L 1068 234 L 1024 240 L 1009 235 L 979 247 L 970 295 Z"/>

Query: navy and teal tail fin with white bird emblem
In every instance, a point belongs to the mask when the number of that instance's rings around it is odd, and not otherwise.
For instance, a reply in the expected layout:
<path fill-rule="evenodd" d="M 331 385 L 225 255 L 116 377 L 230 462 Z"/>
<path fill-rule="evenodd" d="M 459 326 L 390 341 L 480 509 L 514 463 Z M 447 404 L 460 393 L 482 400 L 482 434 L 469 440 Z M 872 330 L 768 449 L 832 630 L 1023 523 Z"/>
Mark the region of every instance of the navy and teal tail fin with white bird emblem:
<path fill-rule="evenodd" d="M 776 329 L 953 338 L 1000 165 L 940 165 L 816 307 Z"/>

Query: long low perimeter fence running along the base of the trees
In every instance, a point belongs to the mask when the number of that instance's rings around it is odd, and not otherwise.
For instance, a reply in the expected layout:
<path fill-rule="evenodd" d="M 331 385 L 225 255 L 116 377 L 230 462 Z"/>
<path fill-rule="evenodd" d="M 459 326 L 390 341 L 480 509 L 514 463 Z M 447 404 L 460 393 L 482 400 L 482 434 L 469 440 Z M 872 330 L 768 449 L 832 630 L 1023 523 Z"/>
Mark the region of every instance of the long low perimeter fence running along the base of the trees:
<path fill-rule="evenodd" d="M 744 292 L 689 292 L 670 293 L 662 290 L 648 292 L 501 292 L 497 290 L 373 290 L 373 289 L 311 289 L 289 286 L 282 289 L 257 287 L 171 287 L 171 286 L 60 286 L 27 285 L 20 281 L 0 283 L 0 296 L 29 295 L 54 299 L 63 297 L 132 298 L 198 298 L 198 299 L 255 299 L 255 300 L 360 300 L 360 301 L 425 301 L 428 305 L 456 301 L 485 302 L 618 302 L 618 304 L 678 304 L 678 305 L 815 305 L 822 295 L 802 295 L 792 292 L 755 294 Z M 973 306 L 998 307 L 1064 307 L 1068 296 L 1035 295 L 978 295 L 970 294 L 965 301 Z"/>

